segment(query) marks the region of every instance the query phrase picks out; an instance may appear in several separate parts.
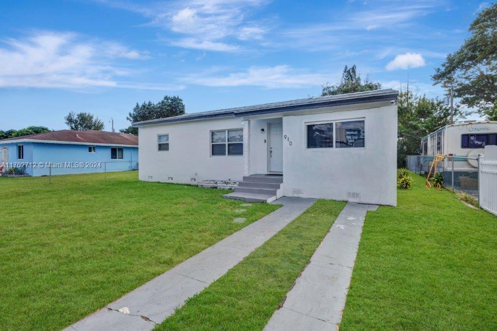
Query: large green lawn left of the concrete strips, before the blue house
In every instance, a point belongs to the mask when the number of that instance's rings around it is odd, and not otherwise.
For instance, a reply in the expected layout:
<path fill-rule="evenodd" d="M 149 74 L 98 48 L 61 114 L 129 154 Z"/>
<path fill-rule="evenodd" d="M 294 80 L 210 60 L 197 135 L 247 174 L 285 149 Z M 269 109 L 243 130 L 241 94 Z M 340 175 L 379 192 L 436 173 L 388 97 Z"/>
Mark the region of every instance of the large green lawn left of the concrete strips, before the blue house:
<path fill-rule="evenodd" d="M 0 329 L 62 329 L 275 210 L 137 172 L 1 179 Z M 246 217 L 242 224 L 235 217 Z"/>

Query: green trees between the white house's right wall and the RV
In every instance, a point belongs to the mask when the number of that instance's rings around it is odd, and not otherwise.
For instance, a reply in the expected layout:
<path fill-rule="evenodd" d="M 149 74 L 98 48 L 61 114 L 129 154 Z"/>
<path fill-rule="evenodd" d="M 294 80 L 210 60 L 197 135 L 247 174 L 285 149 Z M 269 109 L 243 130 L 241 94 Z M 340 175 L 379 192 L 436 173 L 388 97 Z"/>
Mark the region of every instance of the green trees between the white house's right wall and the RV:
<path fill-rule="evenodd" d="M 466 112 L 454 107 L 454 118 L 465 118 Z M 406 166 L 407 155 L 418 155 L 421 138 L 450 122 L 450 108 L 438 98 L 400 92 L 397 98 L 398 140 L 397 166 Z"/>

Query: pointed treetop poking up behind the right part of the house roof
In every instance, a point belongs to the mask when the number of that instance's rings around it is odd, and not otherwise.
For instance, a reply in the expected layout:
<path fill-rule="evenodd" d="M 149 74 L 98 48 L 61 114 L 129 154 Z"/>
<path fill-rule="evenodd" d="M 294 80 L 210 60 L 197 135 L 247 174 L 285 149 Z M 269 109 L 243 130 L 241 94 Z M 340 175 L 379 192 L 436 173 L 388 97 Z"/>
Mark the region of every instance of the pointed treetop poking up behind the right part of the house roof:
<path fill-rule="evenodd" d="M 361 81 L 361 75 L 357 73 L 356 66 L 343 68 L 342 78 L 337 85 L 323 86 L 321 96 L 336 95 L 344 93 L 372 91 L 381 88 L 381 84 L 369 81 L 369 75 L 366 76 L 364 82 Z"/>

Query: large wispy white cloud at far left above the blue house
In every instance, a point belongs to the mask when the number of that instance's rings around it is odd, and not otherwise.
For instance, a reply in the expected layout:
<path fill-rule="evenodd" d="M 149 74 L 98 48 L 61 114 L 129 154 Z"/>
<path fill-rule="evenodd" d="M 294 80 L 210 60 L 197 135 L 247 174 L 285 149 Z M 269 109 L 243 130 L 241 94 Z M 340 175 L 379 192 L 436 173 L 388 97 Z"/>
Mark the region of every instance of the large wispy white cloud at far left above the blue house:
<path fill-rule="evenodd" d="M 121 83 L 131 71 L 118 59 L 146 59 L 148 53 L 75 33 L 36 32 L 25 39 L 7 39 L 0 47 L 0 87 L 147 88 L 146 83 Z M 135 85 L 135 86 L 134 86 Z M 150 85 L 157 89 L 159 85 Z M 166 85 L 163 86 L 168 89 Z"/>

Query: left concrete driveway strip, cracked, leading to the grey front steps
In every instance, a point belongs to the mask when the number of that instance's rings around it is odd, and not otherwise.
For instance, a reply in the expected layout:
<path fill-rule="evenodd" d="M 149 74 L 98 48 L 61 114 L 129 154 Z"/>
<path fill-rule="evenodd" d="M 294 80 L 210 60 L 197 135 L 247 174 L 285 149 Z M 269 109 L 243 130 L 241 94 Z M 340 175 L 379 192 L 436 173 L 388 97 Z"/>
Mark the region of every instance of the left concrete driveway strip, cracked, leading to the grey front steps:
<path fill-rule="evenodd" d="M 283 197 L 283 206 L 169 269 L 66 330 L 151 330 L 309 208 L 315 199 Z"/>

